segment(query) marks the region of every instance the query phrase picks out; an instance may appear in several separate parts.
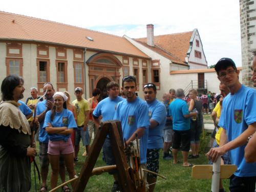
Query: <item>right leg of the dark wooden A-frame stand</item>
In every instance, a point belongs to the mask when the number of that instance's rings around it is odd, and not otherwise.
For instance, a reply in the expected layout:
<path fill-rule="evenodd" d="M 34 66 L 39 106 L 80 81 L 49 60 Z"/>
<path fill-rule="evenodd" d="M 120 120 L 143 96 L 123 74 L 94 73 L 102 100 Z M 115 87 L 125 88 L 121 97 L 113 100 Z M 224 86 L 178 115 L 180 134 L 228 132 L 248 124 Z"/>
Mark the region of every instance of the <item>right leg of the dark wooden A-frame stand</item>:
<path fill-rule="evenodd" d="M 120 124 L 116 124 L 115 121 L 111 122 L 112 126 L 110 127 L 110 140 L 111 146 L 113 150 L 113 154 L 115 156 L 116 166 L 118 170 L 118 182 L 124 192 L 132 192 L 136 191 L 135 184 L 131 180 L 129 175 L 129 167 L 127 164 L 127 158 L 124 153 L 124 145 L 122 140 L 122 136 L 120 138 L 120 132 L 118 132 L 118 126 Z"/>

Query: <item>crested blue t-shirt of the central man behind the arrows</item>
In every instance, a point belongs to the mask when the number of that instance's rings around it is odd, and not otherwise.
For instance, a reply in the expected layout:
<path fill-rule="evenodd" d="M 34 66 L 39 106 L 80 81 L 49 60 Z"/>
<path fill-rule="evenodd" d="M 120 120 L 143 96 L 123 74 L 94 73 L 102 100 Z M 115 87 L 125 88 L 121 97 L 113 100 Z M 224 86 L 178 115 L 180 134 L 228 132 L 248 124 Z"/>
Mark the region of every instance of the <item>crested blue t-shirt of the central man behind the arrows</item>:
<path fill-rule="evenodd" d="M 123 100 L 117 104 L 114 119 L 120 120 L 122 124 L 123 138 L 128 140 L 138 127 L 145 129 L 144 135 L 140 138 L 140 159 L 146 163 L 148 126 L 148 107 L 145 101 L 137 97 L 133 102 Z"/>

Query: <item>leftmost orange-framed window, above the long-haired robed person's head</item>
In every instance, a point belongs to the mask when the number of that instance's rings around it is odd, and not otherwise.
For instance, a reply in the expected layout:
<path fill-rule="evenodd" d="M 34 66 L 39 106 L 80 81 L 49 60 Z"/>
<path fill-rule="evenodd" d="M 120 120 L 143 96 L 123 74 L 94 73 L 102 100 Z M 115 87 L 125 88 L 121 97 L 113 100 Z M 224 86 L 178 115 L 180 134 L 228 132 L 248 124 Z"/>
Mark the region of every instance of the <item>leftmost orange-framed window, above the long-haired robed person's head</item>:
<path fill-rule="evenodd" d="M 6 74 L 15 74 L 22 76 L 23 59 L 20 58 L 6 58 Z"/>

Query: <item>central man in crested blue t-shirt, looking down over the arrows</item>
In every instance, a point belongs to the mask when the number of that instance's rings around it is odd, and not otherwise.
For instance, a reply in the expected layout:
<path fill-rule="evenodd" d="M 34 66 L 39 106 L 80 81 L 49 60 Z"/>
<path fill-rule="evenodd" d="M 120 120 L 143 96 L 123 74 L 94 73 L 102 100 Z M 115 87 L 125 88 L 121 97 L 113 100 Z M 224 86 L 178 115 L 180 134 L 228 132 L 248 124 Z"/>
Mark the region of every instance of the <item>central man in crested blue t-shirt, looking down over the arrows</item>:
<path fill-rule="evenodd" d="M 126 144 L 136 143 L 136 135 L 140 139 L 140 163 L 142 168 L 146 168 L 146 150 L 148 126 L 150 119 L 148 118 L 148 107 L 145 101 L 136 96 L 135 92 L 136 78 L 134 76 L 126 76 L 122 79 L 122 91 L 126 96 L 117 104 L 114 119 L 120 120 L 123 131 L 123 138 Z M 143 176 L 146 182 L 146 174 Z"/>

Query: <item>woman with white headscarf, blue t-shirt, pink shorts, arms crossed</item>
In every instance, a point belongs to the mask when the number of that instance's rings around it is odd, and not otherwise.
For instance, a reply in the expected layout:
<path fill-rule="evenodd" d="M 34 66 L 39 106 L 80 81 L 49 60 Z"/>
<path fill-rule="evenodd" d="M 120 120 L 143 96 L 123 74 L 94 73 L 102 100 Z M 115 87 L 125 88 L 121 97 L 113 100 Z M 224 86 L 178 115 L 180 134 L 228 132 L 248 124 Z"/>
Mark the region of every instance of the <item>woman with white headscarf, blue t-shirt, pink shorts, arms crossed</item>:
<path fill-rule="evenodd" d="M 77 127 L 72 112 L 67 110 L 68 97 L 62 92 L 53 95 L 54 106 L 46 113 L 44 129 L 48 133 L 48 156 L 52 167 L 51 188 L 56 187 L 59 173 L 59 157 L 64 158 L 69 178 L 75 177 L 74 148 L 70 135 Z M 74 183 L 72 183 L 74 188 Z"/>

